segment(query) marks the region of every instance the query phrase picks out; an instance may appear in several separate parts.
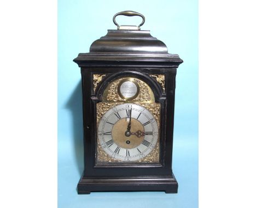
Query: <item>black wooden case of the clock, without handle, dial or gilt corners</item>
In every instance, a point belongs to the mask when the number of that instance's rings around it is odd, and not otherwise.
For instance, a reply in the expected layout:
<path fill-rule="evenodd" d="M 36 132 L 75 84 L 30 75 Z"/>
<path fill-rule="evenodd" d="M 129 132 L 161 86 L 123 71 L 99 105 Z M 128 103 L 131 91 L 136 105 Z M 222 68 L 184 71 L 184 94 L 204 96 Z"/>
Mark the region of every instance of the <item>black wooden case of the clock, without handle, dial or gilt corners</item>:
<path fill-rule="evenodd" d="M 78 183 L 79 194 L 93 191 L 165 191 L 177 193 L 172 173 L 173 120 L 176 72 L 183 62 L 169 54 L 161 41 L 148 30 L 108 30 L 96 40 L 89 53 L 74 59 L 80 67 L 83 91 L 84 173 Z M 96 90 L 93 75 L 104 74 Z M 165 76 L 165 91 L 151 74 Z M 161 104 L 160 164 L 139 166 L 96 165 L 96 103 L 102 101 L 107 85 L 118 77 L 135 77 L 153 90 Z"/>

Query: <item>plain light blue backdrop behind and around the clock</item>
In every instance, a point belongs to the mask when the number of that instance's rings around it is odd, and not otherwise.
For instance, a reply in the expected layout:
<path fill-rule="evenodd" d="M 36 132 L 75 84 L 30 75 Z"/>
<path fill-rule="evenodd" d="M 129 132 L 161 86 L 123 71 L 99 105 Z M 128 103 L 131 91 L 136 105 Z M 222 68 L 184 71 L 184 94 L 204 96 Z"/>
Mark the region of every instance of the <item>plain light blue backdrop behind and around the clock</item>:
<path fill-rule="evenodd" d="M 184 60 L 177 70 L 173 173 L 178 194 L 165 192 L 91 193 L 75 190 L 83 172 L 80 69 L 72 62 L 92 42 L 116 29 L 119 11 L 143 14 L 142 30 L 164 41 Z M 118 16 L 119 25 L 139 25 L 141 17 Z M 58 204 L 65 207 L 198 207 L 198 41 L 197 1 L 65 1 L 58 3 Z M 129 203 L 127 203 L 129 199 Z M 124 203 L 124 201 L 126 201 Z M 160 203 L 160 204 L 159 204 Z"/>

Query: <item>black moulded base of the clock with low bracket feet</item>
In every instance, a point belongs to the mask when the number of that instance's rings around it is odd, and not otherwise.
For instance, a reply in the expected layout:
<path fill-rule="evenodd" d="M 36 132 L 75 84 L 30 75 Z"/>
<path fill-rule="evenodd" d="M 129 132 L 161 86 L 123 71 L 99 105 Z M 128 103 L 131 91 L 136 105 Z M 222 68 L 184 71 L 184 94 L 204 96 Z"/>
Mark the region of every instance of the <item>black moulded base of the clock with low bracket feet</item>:
<path fill-rule="evenodd" d="M 178 183 L 174 175 L 133 177 L 82 176 L 77 185 L 77 191 L 78 194 L 109 191 L 164 191 L 165 193 L 177 193 Z"/>

